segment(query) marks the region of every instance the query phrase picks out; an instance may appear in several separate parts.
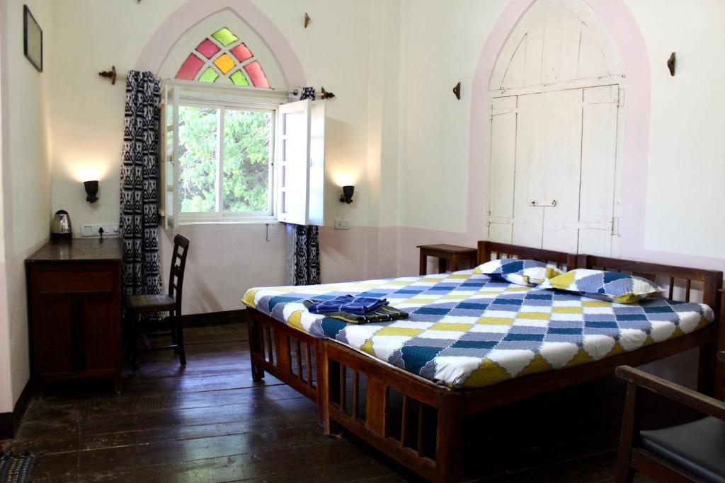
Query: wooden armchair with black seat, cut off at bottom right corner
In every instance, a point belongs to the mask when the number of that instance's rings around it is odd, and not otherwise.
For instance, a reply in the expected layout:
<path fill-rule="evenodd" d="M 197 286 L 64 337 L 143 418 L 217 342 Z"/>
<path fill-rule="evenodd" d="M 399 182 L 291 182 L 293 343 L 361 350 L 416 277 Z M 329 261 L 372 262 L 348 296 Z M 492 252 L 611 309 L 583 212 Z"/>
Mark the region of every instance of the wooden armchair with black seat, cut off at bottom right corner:
<path fill-rule="evenodd" d="M 718 353 L 725 362 L 725 352 Z M 628 382 L 617 462 L 617 482 L 639 471 L 659 482 L 725 482 L 725 403 L 629 366 L 616 374 Z M 707 415 L 679 426 L 640 431 L 639 392 L 647 390 Z"/>

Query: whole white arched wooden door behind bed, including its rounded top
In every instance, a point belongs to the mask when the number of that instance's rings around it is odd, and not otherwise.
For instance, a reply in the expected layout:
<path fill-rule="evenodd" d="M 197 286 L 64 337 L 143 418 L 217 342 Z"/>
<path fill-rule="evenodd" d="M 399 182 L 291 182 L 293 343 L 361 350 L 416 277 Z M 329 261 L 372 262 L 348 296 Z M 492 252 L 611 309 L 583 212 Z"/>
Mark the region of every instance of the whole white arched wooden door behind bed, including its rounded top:
<path fill-rule="evenodd" d="M 616 253 L 622 85 L 583 1 L 539 0 L 524 15 L 489 86 L 489 240 Z"/>

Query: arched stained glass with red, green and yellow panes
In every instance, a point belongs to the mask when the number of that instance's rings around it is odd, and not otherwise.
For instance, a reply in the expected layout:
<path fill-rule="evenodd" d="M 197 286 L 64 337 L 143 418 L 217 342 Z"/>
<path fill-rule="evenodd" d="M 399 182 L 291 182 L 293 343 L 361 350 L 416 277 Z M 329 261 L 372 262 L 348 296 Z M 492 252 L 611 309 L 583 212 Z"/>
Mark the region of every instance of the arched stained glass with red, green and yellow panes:
<path fill-rule="evenodd" d="M 227 79 L 234 85 L 270 86 L 267 76 L 254 54 L 228 28 L 220 28 L 196 49 L 188 54 L 181 64 L 176 78 L 216 83 Z"/>

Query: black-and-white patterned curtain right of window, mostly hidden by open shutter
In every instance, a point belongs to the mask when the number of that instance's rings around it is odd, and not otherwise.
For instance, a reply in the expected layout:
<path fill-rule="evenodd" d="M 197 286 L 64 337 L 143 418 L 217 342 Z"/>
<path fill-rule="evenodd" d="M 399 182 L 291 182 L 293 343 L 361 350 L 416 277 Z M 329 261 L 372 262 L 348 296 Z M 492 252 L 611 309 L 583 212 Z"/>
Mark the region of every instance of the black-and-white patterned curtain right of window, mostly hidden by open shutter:
<path fill-rule="evenodd" d="M 315 100 L 315 88 L 303 87 L 299 99 Z M 287 274 L 289 285 L 320 283 L 318 227 L 287 225 Z"/>

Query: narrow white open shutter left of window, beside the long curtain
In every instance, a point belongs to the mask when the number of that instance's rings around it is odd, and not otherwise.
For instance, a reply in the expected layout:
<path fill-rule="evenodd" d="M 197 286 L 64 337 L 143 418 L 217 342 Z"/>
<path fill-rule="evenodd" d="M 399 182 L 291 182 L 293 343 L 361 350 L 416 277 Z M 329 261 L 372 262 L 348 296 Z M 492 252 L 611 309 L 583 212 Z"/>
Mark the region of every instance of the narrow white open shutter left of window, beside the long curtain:
<path fill-rule="evenodd" d="M 165 85 L 161 103 L 159 215 L 167 229 L 175 227 L 178 206 L 178 119 L 178 91 Z"/>

